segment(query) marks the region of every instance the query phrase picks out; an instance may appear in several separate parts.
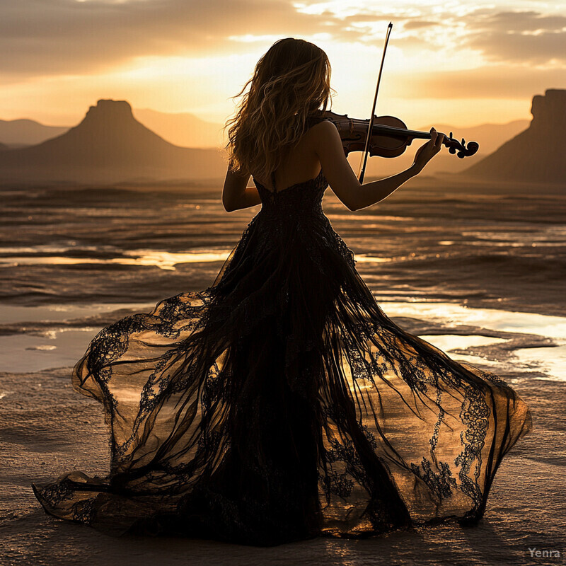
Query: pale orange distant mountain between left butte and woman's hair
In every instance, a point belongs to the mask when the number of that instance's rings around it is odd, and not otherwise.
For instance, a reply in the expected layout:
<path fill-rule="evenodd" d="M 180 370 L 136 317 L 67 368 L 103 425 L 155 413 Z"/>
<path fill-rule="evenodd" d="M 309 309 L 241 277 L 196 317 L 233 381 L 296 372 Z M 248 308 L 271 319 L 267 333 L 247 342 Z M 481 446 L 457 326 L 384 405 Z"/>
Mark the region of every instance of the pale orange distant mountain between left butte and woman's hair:
<path fill-rule="evenodd" d="M 187 112 L 157 112 L 134 108 L 134 117 L 172 144 L 182 147 L 222 147 L 224 124 L 200 120 Z"/>

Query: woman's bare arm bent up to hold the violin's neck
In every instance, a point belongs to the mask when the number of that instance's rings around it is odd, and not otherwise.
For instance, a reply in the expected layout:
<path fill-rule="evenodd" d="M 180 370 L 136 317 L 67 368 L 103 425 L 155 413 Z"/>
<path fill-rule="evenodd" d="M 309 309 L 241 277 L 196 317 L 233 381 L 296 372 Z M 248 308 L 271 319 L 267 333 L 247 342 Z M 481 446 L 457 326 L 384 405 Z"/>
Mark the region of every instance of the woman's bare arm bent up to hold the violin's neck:
<path fill-rule="evenodd" d="M 348 163 L 342 140 L 336 126 L 325 120 L 311 128 L 313 144 L 324 176 L 328 180 L 335 195 L 350 210 L 359 210 L 376 204 L 391 195 L 405 181 L 414 177 L 440 151 L 443 134 L 437 134 L 431 129 L 431 139 L 421 146 L 415 155 L 415 161 L 410 168 L 385 179 L 362 185 L 357 180 L 350 163 Z"/>

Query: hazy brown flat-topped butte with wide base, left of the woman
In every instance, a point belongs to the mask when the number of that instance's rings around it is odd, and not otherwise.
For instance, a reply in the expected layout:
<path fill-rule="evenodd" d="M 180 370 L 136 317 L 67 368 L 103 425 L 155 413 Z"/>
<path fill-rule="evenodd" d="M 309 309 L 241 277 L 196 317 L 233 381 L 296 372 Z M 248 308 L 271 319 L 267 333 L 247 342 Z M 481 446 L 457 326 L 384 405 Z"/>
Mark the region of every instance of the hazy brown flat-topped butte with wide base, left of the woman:
<path fill-rule="evenodd" d="M 202 180 L 220 178 L 225 170 L 220 150 L 170 144 L 138 122 L 126 100 L 98 100 L 68 132 L 0 153 L 4 183 Z"/>

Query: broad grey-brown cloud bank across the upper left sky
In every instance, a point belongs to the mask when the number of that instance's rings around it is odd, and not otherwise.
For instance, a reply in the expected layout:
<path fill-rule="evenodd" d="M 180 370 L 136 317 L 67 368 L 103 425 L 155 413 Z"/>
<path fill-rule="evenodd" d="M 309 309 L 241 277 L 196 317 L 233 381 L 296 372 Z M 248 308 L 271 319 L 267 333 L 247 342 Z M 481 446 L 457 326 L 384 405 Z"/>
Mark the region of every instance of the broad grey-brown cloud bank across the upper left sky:
<path fill-rule="evenodd" d="M 285 0 L 2 0 L 0 74 L 92 74 L 134 57 L 243 52 L 233 35 L 328 32 Z"/>

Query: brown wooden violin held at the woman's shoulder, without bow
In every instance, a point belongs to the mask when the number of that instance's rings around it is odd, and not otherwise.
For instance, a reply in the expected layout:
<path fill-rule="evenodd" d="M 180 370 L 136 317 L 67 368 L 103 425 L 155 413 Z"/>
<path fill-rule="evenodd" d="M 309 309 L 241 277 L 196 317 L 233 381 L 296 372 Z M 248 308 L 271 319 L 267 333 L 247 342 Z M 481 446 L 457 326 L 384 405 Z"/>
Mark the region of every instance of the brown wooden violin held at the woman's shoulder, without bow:
<path fill-rule="evenodd" d="M 333 122 L 337 127 L 346 156 L 350 151 L 365 151 L 369 119 L 350 118 L 347 114 L 336 114 L 330 110 L 323 113 L 323 119 Z M 413 139 L 430 137 L 430 132 L 407 129 L 403 120 L 395 116 L 374 116 L 367 151 L 370 156 L 397 157 L 403 154 Z M 475 154 L 480 147 L 475 141 L 468 141 L 466 144 L 463 138 L 462 141 L 454 139 L 452 132 L 449 136 L 444 134 L 442 144 L 448 148 L 450 154 L 456 154 L 461 159 Z"/>

